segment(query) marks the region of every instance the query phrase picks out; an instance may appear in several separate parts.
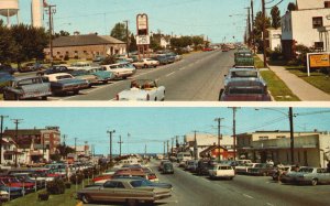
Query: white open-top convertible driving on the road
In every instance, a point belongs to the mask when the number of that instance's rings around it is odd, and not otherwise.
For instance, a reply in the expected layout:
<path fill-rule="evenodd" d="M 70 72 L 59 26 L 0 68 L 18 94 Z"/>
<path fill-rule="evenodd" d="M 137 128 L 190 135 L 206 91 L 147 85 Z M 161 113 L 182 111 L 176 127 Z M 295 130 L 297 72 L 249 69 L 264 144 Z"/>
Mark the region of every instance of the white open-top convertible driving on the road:
<path fill-rule="evenodd" d="M 155 80 L 133 80 L 130 89 L 117 95 L 117 100 L 163 101 L 165 100 L 165 87 L 158 87 Z"/>

